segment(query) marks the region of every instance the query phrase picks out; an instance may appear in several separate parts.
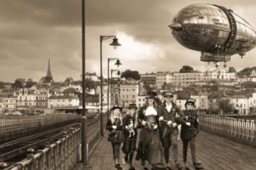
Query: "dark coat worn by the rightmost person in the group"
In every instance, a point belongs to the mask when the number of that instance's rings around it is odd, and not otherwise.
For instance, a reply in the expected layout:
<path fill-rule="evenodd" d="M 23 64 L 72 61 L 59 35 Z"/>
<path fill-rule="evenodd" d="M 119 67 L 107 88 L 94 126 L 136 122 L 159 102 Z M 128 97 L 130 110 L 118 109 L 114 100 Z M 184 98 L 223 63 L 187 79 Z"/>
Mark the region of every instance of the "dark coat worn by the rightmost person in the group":
<path fill-rule="evenodd" d="M 190 123 L 190 127 L 188 127 L 185 124 L 182 124 L 181 127 L 181 139 L 183 140 L 190 140 L 196 136 L 196 134 L 199 133 L 199 120 L 197 118 L 196 111 L 191 110 L 185 110 L 185 122 Z"/>

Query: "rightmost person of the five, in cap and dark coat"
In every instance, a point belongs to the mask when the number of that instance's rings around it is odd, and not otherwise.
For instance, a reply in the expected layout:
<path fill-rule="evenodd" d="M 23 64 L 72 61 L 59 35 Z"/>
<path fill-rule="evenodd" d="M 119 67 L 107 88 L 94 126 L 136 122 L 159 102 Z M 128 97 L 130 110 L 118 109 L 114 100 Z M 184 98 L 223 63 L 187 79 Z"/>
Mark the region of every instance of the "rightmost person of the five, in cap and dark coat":
<path fill-rule="evenodd" d="M 188 127 L 185 124 L 181 127 L 181 139 L 183 142 L 183 167 L 188 169 L 187 166 L 187 153 L 188 153 L 188 143 L 190 143 L 192 164 L 194 169 L 201 169 L 199 167 L 201 165 L 200 161 L 196 160 L 196 134 L 199 133 L 199 120 L 197 118 L 196 111 L 194 111 L 194 100 L 189 98 L 185 103 L 185 122 L 190 123 L 191 125 Z"/>

